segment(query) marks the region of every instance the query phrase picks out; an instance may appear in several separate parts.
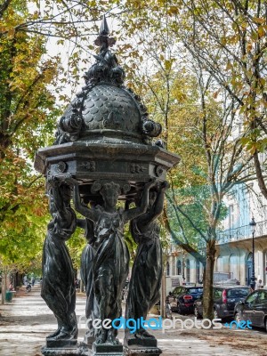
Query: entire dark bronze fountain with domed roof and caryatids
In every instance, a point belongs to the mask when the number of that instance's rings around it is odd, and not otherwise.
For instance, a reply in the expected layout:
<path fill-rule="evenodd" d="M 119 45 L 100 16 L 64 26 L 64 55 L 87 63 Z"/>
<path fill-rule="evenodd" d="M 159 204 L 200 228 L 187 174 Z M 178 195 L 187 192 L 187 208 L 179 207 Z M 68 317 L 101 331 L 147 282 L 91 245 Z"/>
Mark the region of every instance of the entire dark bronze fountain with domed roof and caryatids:
<path fill-rule="evenodd" d="M 126 317 L 146 317 L 157 302 L 162 256 L 156 220 L 163 208 L 167 171 L 180 158 L 162 142 L 153 142 L 161 125 L 149 118 L 139 96 L 124 85 L 125 72 L 110 50 L 115 39 L 109 37 L 105 18 L 95 44 L 100 46 L 96 62 L 61 117 L 53 146 L 36 153 L 36 170 L 46 177 L 52 214 L 44 242 L 42 296 L 58 321 L 42 352 L 123 355 L 139 345 L 142 353 L 156 355 L 157 340 L 147 330 L 138 329 L 131 343 L 126 331 L 123 348 L 116 323 L 94 328 L 93 321 L 122 315 L 121 294 L 129 270 L 127 222 L 138 251 Z M 65 244 L 77 227 L 85 230 L 87 240 L 81 276 L 86 318 L 91 321 L 85 344 L 77 344 L 74 271 Z"/>

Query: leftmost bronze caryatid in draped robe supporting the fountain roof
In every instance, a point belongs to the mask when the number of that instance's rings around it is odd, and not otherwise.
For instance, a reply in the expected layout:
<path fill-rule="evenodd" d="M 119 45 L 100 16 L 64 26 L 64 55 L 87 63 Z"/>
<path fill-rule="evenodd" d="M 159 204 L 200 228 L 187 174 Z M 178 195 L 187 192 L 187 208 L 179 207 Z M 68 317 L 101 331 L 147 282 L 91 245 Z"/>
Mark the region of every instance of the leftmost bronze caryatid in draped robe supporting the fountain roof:
<path fill-rule="evenodd" d="M 41 295 L 53 311 L 58 328 L 47 339 L 57 343 L 76 344 L 77 320 L 75 314 L 76 291 L 74 271 L 66 247 L 77 227 L 77 218 L 70 207 L 69 185 L 55 177 L 47 178 L 50 213 L 43 252 L 43 282 Z"/>

